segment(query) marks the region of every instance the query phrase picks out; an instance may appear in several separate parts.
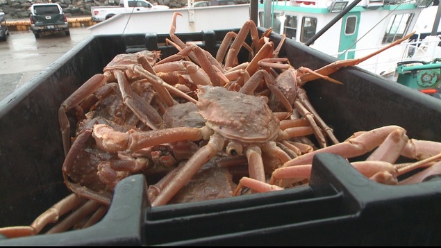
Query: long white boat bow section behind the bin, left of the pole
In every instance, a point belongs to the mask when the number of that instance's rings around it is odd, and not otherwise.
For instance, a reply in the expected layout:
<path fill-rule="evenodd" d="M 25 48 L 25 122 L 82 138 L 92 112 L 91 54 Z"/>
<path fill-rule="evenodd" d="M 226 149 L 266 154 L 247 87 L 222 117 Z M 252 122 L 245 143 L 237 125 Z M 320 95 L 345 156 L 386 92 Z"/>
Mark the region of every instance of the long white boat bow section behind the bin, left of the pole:
<path fill-rule="evenodd" d="M 189 6 L 191 6 L 189 4 Z M 216 29 L 240 28 L 249 20 L 249 3 L 171 8 L 138 13 L 119 13 L 110 19 L 90 26 L 92 35 L 121 35 L 133 33 L 169 33 L 174 13 L 176 33 L 194 33 Z"/>

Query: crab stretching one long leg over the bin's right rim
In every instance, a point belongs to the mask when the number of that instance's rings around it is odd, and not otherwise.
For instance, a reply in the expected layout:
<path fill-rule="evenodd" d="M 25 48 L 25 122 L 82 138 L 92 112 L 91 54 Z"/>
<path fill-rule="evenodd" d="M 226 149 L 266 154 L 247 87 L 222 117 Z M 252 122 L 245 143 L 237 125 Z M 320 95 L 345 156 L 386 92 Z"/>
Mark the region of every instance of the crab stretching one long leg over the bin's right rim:
<path fill-rule="evenodd" d="M 333 135 L 333 130 L 326 125 L 323 119 L 319 117 L 313 106 L 310 104 L 306 91 L 303 89 L 303 85 L 308 83 L 308 81 L 313 81 L 318 78 L 324 78 L 332 83 L 342 84 L 340 81 L 336 81 L 328 75 L 333 74 L 342 67 L 358 65 L 359 63 L 372 58 L 372 56 L 376 56 L 378 53 L 381 53 L 390 47 L 396 46 L 404 40 L 408 40 L 411 35 L 413 35 L 413 33 L 410 33 L 409 35 L 406 35 L 406 37 L 403 37 L 400 40 L 397 40 L 388 46 L 383 47 L 382 49 L 379 49 L 378 51 L 375 51 L 374 53 L 362 58 L 338 60 L 315 70 L 306 67 L 299 67 L 295 69 L 292 67 L 292 65 L 290 65 L 288 58 L 276 58 L 276 56 L 273 58 L 261 58 L 258 60 L 258 66 L 262 69 L 258 70 L 256 74 L 253 74 L 253 76 L 249 78 L 249 81 L 252 81 L 252 83 L 247 82 L 247 84 L 256 85 L 262 78 L 265 78 L 265 81 L 267 81 L 266 83 L 268 84 L 269 82 L 267 78 L 269 77 L 266 74 L 267 72 L 272 72 L 275 79 L 274 81 L 271 81 L 270 84 L 272 87 L 277 88 L 281 94 L 283 94 L 283 97 L 277 96 L 270 98 L 269 105 L 271 106 L 272 110 L 275 112 L 283 109 L 292 113 L 294 107 L 299 115 L 306 119 L 308 124 L 313 128 L 315 138 L 319 143 L 319 147 L 328 146 L 326 136 L 331 140 L 331 142 L 333 142 L 333 144 L 338 144 L 339 141 L 337 138 L 335 138 L 335 135 Z M 282 43 L 283 39 L 281 41 L 281 44 Z M 278 45 L 276 51 L 280 49 L 281 44 Z M 274 52 L 274 54 L 276 54 L 276 52 Z M 267 72 L 265 70 L 267 70 Z M 276 70 L 281 72 L 277 73 Z M 275 91 L 272 90 L 272 92 Z M 288 102 L 281 103 L 280 99 L 286 99 Z"/>

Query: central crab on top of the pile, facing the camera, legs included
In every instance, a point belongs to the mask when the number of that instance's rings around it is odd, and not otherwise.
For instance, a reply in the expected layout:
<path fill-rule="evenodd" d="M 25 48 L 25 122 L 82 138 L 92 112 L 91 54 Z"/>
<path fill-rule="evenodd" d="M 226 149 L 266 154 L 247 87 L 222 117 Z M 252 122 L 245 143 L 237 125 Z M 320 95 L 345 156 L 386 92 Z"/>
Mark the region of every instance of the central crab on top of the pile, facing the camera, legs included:
<path fill-rule="evenodd" d="M 286 140 L 296 133 L 280 129 L 280 122 L 268 108 L 265 99 L 222 87 L 199 85 L 197 107 L 198 113 L 206 119 L 205 126 L 201 128 L 177 127 L 124 133 L 106 124 L 94 125 L 92 135 L 97 145 L 109 152 L 137 151 L 178 140 L 208 140 L 172 176 L 170 183 L 151 199 L 151 206 L 167 204 L 203 164 L 219 153 L 247 156 L 249 175 L 258 181 L 265 181 L 262 154 L 275 154 L 278 163 L 290 160 L 290 156 L 276 145 L 276 141 Z"/>

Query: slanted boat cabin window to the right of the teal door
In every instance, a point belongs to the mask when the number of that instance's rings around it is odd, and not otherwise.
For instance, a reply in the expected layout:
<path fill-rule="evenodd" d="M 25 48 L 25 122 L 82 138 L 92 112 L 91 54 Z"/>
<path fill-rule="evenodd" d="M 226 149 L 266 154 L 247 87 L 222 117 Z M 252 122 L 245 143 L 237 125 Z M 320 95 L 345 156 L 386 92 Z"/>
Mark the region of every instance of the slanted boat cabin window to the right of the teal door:
<path fill-rule="evenodd" d="M 414 14 L 412 13 L 392 16 L 383 37 L 383 44 L 392 43 L 395 40 L 403 38 L 409 29 L 409 24 L 412 22 L 413 16 Z"/>

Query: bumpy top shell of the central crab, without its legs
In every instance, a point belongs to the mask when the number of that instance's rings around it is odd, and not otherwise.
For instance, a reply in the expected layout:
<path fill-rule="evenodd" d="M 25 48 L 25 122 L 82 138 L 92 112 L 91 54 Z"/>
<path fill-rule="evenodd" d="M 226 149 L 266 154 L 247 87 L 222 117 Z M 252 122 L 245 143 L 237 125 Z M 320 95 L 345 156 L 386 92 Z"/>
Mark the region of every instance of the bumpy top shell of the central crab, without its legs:
<path fill-rule="evenodd" d="M 199 86 L 198 97 L 206 126 L 224 138 L 246 143 L 276 139 L 279 120 L 263 98 L 210 85 Z"/>

